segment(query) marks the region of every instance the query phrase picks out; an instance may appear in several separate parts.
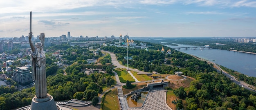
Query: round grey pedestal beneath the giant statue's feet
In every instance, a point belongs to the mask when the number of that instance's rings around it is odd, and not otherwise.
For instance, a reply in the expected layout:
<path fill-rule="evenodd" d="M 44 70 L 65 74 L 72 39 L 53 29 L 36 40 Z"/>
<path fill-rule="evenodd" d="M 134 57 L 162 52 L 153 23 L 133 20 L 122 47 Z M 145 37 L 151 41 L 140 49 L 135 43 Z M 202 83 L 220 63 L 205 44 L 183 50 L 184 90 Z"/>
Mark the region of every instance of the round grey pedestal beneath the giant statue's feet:
<path fill-rule="evenodd" d="M 34 97 L 31 102 L 30 110 L 61 110 L 61 108 L 56 105 L 53 97 L 48 94 L 45 98 Z"/>

